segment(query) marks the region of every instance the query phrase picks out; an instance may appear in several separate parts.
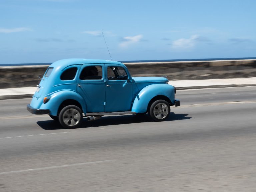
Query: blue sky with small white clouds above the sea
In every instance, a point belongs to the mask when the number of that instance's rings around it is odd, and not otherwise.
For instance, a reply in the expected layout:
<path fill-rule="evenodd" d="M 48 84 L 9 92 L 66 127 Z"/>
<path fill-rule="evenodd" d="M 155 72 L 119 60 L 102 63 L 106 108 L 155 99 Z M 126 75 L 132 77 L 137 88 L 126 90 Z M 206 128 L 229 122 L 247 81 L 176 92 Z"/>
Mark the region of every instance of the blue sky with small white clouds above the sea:
<path fill-rule="evenodd" d="M 255 0 L 1 0 L 0 64 L 256 57 Z"/>

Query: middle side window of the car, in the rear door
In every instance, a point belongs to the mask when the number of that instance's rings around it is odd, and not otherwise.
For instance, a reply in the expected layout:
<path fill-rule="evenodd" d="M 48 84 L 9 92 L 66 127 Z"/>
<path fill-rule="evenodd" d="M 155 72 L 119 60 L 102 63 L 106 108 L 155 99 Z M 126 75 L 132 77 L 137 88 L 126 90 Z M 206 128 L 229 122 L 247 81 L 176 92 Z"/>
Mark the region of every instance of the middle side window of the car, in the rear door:
<path fill-rule="evenodd" d="M 101 66 L 85 67 L 80 74 L 80 79 L 81 80 L 102 79 L 102 67 Z"/>

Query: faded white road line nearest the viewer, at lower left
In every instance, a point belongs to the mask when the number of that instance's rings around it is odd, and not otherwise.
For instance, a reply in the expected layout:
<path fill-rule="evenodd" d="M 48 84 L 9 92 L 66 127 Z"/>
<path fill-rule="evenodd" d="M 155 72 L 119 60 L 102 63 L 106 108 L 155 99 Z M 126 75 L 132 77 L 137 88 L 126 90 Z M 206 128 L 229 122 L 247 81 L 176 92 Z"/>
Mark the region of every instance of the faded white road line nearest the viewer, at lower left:
<path fill-rule="evenodd" d="M 75 163 L 75 164 L 69 164 L 69 165 L 59 165 L 59 166 L 51 166 L 51 167 L 41 167 L 41 168 L 35 168 L 35 169 L 24 169 L 19 171 L 8 171 L 8 172 L 1 172 L 0 175 L 9 174 L 9 173 L 22 173 L 22 172 L 28 172 L 28 171 L 42 171 L 47 169 L 56 169 L 56 168 L 63 168 L 63 167 L 71 167 L 71 166 L 81 166 L 81 165 L 89 165 L 89 164 L 97 164 L 97 163 L 106 163 L 116 161 L 115 159 L 111 160 L 104 160 L 104 161 L 92 161 L 92 162 L 85 162 L 85 163 Z"/>

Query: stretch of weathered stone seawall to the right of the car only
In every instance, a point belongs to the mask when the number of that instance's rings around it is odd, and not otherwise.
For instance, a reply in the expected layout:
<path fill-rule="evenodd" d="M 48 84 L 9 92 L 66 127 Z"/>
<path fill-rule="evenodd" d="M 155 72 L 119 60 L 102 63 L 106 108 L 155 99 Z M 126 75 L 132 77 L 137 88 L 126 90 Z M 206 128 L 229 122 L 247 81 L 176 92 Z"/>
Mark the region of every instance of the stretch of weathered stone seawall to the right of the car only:
<path fill-rule="evenodd" d="M 169 80 L 256 77 L 256 60 L 126 64 L 132 76 L 167 76 Z"/>

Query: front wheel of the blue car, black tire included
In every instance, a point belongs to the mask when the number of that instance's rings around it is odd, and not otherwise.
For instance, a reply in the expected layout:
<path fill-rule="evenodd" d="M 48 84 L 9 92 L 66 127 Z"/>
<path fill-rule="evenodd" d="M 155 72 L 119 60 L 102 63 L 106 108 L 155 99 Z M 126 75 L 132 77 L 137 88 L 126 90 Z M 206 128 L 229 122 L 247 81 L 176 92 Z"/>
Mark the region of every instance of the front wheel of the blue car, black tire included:
<path fill-rule="evenodd" d="M 170 115 L 170 105 L 165 100 L 156 100 L 149 109 L 149 115 L 154 121 L 164 121 Z"/>

